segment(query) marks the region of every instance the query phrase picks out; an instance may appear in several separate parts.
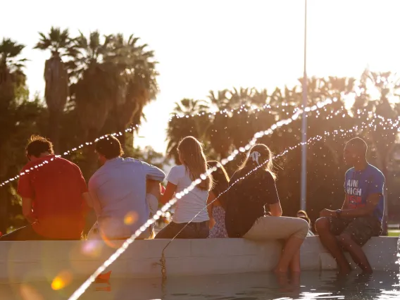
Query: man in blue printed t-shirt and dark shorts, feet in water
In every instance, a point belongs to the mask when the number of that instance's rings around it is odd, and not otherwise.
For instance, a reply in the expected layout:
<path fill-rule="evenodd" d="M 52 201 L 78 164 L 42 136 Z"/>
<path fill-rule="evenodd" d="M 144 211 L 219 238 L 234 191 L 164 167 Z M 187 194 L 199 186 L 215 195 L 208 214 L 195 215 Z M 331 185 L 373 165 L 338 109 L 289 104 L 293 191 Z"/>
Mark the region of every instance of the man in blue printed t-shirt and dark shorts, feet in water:
<path fill-rule="evenodd" d="M 363 139 L 356 137 L 346 143 L 344 161 L 353 168 L 346 172 L 344 204 L 337 211 L 324 209 L 315 222 L 320 241 L 336 259 L 341 273 L 351 271 L 342 249 L 349 251 L 365 273 L 372 273 L 361 246 L 382 232 L 385 176 L 367 162 L 366 154 Z"/>

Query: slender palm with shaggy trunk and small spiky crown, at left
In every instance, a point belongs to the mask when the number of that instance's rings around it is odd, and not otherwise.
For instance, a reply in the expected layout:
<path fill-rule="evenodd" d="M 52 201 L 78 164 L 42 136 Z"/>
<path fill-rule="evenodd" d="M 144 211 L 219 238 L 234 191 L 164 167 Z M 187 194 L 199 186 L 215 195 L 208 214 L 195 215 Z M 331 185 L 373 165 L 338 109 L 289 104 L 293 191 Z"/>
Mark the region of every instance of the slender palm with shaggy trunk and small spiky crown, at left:
<path fill-rule="evenodd" d="M 39 35 L 39 42 L 34 49 L 51 51 L 51 57 L 44 64 L 44 97 L 49 108 L 49 138 L 54 143 L 57 153 L 60 146 L 61 117 L 69 94 L 68 71 L 62 57 L 73 56 L 75 49 L 68 29 L 61 31 L 59 27 L 51 27 L 49 35 L 46 36 L 42 32 L 39 32 Z"/>

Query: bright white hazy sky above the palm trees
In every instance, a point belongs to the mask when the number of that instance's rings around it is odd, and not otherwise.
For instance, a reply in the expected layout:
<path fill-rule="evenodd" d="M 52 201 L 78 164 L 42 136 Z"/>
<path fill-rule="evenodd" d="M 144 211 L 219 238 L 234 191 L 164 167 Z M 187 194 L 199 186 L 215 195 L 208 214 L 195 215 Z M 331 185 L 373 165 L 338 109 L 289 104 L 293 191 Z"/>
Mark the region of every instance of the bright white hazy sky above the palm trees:
<path fill-rule="evenodd" d="M 144 108 L 138 146 L 165 151 L 175 101 L 206 99 L 232 87 L 294 85 L 304 70 L 304 0 L 48 0 L 1 4 L 0 38 L 26 47 L 27 84 L 44 92 L 49 52 L 32 49 L 51 26 L 134 34 L 159 62 L 156 101 Z M 400 1 L 308 0 L 308 76 L 359 76 L 400 70 Z"/>

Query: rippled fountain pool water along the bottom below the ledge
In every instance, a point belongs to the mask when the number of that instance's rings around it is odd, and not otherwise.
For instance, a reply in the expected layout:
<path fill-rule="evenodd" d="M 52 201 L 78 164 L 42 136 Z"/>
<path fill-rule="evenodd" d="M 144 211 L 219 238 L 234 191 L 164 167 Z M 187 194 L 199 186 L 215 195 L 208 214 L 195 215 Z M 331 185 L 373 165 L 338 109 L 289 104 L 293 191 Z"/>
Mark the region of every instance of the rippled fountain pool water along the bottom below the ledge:
<path fill-rule="evenodd" d="M 68 299 L 82 283 L 75 280 L 54 291 L 48 282 L 0 285 L 0 299 Z M 397 273 L 373 275 L 335 272 L 303 272 L 299 277 L 277 277 L 272 273 L 243 273 L 170 277 L 161 279 L 113 279 L 109 284 L 93 284 L 80 299 L 99 300 L 258 300 L 258 299 L 400 299 Z"/>

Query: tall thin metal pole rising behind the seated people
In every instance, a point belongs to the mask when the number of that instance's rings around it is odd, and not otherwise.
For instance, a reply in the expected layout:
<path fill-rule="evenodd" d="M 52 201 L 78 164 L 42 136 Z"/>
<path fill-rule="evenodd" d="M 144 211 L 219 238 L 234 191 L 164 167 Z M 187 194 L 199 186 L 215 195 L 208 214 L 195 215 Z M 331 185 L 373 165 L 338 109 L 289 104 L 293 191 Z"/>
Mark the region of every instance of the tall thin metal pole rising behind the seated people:
<path fill-rule="evenodd" d="M 303 108 L 307 106 L 307 0 L 304 0 L 304 74 L 303 74 Z M 306 210 L 307 196 L 307 118 L 303 111 L 301 117 L 301 209 Z"/>

